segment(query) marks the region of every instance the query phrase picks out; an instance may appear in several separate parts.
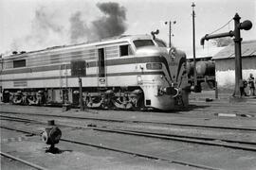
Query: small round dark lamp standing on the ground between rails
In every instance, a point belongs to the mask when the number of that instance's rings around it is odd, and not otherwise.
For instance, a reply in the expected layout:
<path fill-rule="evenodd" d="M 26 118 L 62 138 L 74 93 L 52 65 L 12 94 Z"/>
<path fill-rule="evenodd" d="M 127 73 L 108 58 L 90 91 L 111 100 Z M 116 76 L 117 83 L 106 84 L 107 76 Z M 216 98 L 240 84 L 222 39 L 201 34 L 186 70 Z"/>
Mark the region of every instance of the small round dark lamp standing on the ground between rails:
<path fill-rule="evenodd" d="M 47 127 L 42 133 L 42 141 L 50 146 L 46 149 L 46 152 L 59 153 L 60 150 L 55 147 L 62 137 L 62 131 L 59 127 L 55 126 L 54 120 L 47 121 Z"/>

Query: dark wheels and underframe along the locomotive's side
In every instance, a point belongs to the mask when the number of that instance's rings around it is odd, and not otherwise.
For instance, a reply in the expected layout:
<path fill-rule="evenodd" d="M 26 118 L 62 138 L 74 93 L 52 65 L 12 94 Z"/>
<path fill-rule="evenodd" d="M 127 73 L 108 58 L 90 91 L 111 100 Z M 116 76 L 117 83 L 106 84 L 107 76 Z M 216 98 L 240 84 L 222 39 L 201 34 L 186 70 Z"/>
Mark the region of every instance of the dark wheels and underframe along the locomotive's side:
<path fill-rule="evenodd" d="M 83 105 L 87 108 L 144 108 L 144 93 L 135 87 L 83 87 Z M 3 102 L 19 105 L 79 106 L 79 88 L 9 89 L 4 90 Z"/>

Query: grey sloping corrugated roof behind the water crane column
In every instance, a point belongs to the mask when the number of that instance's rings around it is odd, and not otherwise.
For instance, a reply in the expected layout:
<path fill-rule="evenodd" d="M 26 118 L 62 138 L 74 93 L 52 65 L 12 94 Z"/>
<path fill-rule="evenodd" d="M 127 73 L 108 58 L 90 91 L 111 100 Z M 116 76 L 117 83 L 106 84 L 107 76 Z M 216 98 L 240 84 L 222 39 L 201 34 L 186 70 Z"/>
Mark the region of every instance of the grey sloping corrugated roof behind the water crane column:
<path fill-rule="evenodd" d="M 256 40 L 242 42 L 242 57 L 256 57 Z M 229 44 L 219 53 L 215 54 L 212 59 L 230 59 L 234 58 L 234 44 Z"/>

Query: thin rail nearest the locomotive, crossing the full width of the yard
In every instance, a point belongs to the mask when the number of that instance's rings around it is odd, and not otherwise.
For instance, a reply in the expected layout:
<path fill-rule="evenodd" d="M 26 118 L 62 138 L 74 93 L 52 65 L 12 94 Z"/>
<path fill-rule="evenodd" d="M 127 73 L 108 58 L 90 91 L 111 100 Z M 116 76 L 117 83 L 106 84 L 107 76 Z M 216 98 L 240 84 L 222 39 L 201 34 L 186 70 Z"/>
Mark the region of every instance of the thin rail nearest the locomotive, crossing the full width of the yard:
<path fill-rule="evenodd" d="M 29 116 L 35 115 L 35 116 L 58 117 L 58 118 L 68 118 L 68 119 L 70 118 L 70 119 L 80 119 L 80 120 L 94 120 L 94 121 L 102 121 L 102 122 L 140 123 L 140 124 L 156 124 L 156 125 L 168 125 L 168 126 L 178 126 L 178 127 L 207 127 L 207 128 L 221 128 L 221 129 L 231 129 L 231 130 L 256 131 L 256 128 L 252 128 L 252 127 L 220 127 L 220 126 L 198 125 L 198 124 L 106 119 L 106 118 L 96 118 L 96 117 L 68 116 L 68 115 L 61 115 L 61 114 L 42 114 L 42 113 L 12 112 L 12 111 L 0 111 L 0 113 L 25 114 Z"/>

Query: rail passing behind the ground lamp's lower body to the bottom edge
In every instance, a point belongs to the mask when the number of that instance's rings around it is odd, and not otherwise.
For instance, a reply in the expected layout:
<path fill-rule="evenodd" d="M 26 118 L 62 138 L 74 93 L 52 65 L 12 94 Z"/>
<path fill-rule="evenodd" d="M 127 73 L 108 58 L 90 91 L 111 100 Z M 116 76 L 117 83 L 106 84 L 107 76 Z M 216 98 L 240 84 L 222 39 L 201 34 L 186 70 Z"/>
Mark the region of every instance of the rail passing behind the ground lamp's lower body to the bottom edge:
<path fill-rule="evenodd" d="M 21 131 L 21 132 L 28 133 L 28 134 L 40 135 L 39 132 L 33 132 L 33 131 L 30 131 L 30 130 L 21 130 L 21 129 L 18 129 L 18 128 L 15 128 L 15 127 L 6 127 L 6 126 L 2 126 L 2 125 L 0 125 L 0 127 L 8 128 L 8 129 L 16 130 L 16 131 Z M 137 157 L 141 157 L 141 158 L 147 158 L 147 159 L 159 160 L 159 161 L 168 161 L 168 162 L 171 162 L 171 163 L 181 164 L 181 165 L 190 166 L 190 167 L 196 167 L 196 168 L 200 168 L 200 169 L 220 170 L 220 168 L 215 168 L 215 167 L 210 167 L 210 166 L 206 166 L 206 165 L 202 165 L 202 164 L 192 163 L 192 162 L 189 162 L 189 161 L 178 161 L 178 160 L 163 158 L 163 157 L 159 157 L 159 156 L 154 156 L 154 155 L 151 155 L 151 154 L 145 154 L 145 153 L 134 152 L 134 151 L 129 151 L 129 150 L 125 150 L 125 149 L 110 147 L 110 146 L 103 145 L 103 144 L 84 143 L 84 142 L 81 142 L 81 141 L 75 141 L 75 140 L 69 140 L 69 139 L 61 139 L 60 141 L 67 142 L 67 143 L 72 143 L 72 144 L 88 145 L 88 146 L 97 147 L 97 148 L 101 148 L 101 149 L 105 149 L 105 150 L 110 150 L 110 151 L 115 151 L 115 152 L 119 152 L 119 153 L 129 154 L 129 155 L 133 155 L 133 156 L 137 156 Z"/>

